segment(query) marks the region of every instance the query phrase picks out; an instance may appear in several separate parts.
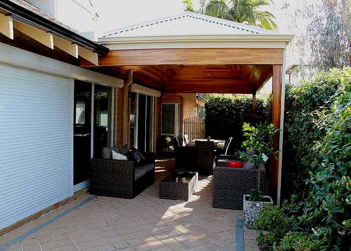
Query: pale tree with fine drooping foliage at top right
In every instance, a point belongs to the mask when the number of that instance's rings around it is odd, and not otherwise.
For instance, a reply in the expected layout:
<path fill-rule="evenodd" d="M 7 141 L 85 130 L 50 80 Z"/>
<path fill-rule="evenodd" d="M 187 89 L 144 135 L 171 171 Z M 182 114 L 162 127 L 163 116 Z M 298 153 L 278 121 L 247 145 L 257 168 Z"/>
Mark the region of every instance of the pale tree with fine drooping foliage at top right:
<path fill-rule="evenodd" d="M 351 66 L 351 0 L 319 0 L 293 12 L 289 2 L 284 8 L 291 14 L 291 30 L 297 34 L 289 47 L 292 53 L 301 52 L 302 76 Z"/>

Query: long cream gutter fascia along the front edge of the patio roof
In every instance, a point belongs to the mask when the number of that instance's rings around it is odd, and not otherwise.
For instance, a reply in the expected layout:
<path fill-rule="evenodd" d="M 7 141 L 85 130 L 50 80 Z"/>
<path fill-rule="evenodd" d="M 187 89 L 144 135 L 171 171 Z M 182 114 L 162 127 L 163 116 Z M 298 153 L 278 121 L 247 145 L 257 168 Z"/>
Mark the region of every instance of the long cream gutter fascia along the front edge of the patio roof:
<path fill-rule="evenodd" d="M 265 35 L 184 35 L 157 37 L 99 38 L 111 50 L 166 48 L 286 48 L 290 34 Z"/>

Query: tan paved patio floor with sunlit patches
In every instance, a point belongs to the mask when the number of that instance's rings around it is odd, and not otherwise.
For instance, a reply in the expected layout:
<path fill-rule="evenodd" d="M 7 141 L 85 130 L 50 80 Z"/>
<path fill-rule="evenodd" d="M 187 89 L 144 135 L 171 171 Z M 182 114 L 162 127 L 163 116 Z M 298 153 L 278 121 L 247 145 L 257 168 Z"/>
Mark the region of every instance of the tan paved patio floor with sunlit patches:
<path fill-rule="evenodd" d="M 155 184 L 132 200 L 84 195 L 0 237 L 0 250 L 28 231 L 32 234 L 8 250 L 235 250 L 235 224 L 242 211 L 212 207 L 212 177 L 199 177 L 189 201 L 159 199 L 159 181 L 173 166 L 172 160 L 157 161 Z M 248 229 L 244 233 L 255 235 Z M 257 250 L 252 241 L 248 249 Z"/>

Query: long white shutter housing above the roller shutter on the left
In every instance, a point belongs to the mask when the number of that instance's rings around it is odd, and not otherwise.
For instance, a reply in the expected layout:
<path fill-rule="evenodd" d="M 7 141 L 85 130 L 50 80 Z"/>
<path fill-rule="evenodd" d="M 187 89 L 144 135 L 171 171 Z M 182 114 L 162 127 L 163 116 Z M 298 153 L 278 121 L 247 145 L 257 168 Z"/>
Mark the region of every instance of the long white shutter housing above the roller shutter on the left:
<path fill-rule="evenodd" d="M 0 43 L 0 62 L 116 88 L 123 80 Z"/>

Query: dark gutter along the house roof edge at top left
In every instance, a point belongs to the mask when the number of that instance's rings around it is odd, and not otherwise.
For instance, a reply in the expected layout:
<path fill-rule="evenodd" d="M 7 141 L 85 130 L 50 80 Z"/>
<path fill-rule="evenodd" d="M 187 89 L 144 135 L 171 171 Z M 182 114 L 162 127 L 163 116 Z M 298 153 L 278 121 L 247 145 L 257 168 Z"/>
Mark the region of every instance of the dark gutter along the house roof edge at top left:
<path fill-rule="evenodd" d="M 100 45 L 94 41 L 91 41 L 83 36 L 67 29 L 51 20 L 36 14 L 12 1 L 2 0 L 0 1 L 0 13 L 4 15 L 11 15 L 14 19 L 38 28 L 45 32 L 50 32 L 53 35 L 60 37 L 65 40 L 69 40 L 72 43 L 76 43 L 79 46 L 93 51 L 100 56 L 104 56 L 109 52 L 109 49 L 103 45 Z"/>

